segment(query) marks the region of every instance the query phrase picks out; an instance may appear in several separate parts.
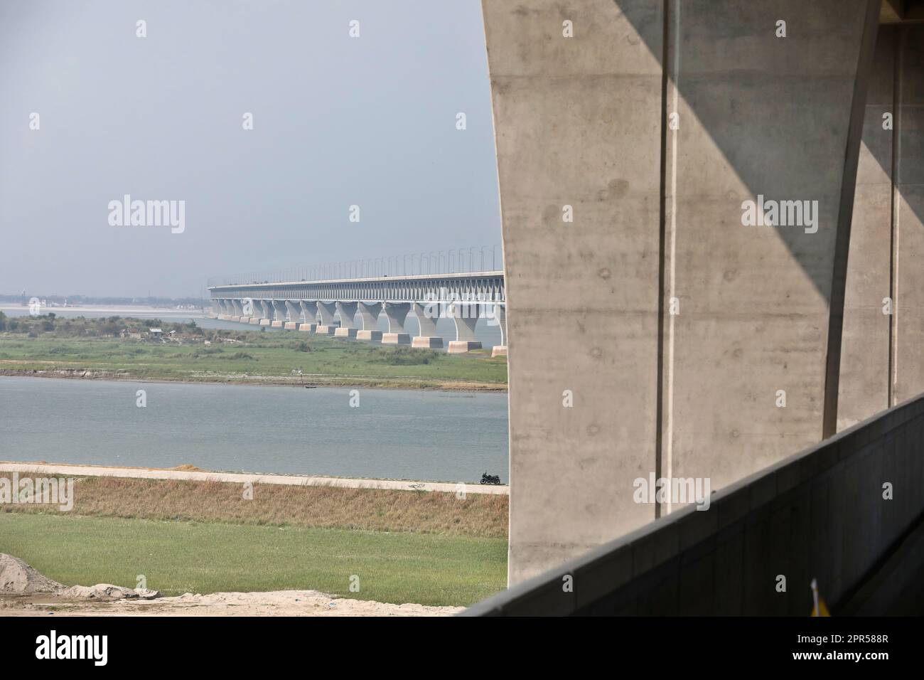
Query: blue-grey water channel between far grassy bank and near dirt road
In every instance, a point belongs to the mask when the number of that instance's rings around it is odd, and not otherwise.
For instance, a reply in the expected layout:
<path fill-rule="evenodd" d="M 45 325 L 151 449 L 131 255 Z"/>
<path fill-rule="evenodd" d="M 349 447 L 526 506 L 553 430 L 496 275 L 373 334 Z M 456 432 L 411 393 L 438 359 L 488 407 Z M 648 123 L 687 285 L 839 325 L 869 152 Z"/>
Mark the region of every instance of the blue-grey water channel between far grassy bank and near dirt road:
<path fill-rule="evenodd" d="M 507 396 L 0 377 L 0 460 L 506 483 Z"/>

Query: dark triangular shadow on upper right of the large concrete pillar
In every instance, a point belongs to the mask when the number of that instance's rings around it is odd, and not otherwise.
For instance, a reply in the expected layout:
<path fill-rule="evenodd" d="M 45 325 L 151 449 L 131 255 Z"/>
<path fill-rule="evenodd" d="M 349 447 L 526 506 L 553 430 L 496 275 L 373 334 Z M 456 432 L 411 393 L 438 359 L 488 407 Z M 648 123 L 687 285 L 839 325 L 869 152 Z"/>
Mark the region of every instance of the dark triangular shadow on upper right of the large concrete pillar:
<path fill-rule="evenodd" d="M 866 0 L 665 0 L 668 49 L 663 16 L 652 12 L 650 0 L 614 0 L 614 6 L 662 66 L 668 62 L 668 87 L 676 84 L 683 104 L 753 197 L 820 201 L 818 234 L 802 229 L 775 231 L 815 289 L 831 303 L 828 253 L 835 246 L 840 177 L 847 151 L 844 141 L 850 107 L 845 102 L 852 101 Z M 776 36 L 778 19 L 786 20 L 785 38 Z M 675 38 L 677 28 L 679 40 Z M 881 34 L 903 30 L 908 29 L 882 27 Z M 675 62 L 672 50 L 677 43 L 680 54 Z M 845 55 L 853 60 L 847 63 Z M 918 64 L 921 57 L 919 52 L 906 56 Z M 889 56 L 877 54 L 877 59 L 882 58 Z M 730 59 L 736 68 L 728 68 Z M 675 69 L 679 74 L 676 83 L 672 79 Z M 873 80 L 869 86 L 880 100 L 883 85 L 891 95 L 891 82 Z M 667 113 L 671 112 L 668 105 Z M 892 134 L 883 132 L 888 142 L 871 144 L 870 151 L 891 177 Z M 682 137 L 678 143 L 682 155 Z M 832 163 L 835 158 L 840 162 Z M 678 179 L 682 184 L 684 177 Z M 729 207 L 736 209 L 736 205 Z M 683 217 L 678 212 L 678 229 L 682 229 Z"/>

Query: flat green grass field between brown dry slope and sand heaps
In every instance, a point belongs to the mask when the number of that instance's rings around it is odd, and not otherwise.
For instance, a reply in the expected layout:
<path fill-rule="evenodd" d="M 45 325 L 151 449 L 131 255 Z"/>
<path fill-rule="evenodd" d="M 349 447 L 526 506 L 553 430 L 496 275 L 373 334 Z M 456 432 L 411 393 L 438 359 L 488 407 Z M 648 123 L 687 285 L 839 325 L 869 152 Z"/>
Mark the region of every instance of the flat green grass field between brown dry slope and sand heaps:
<path fill-rule="evenodd" d="M 310 589 L 463 606 L 506 587 L 506 551 L 503 538 L 0 513 L 0 552 L 49 578 L 135 587 L 145 575 L 164 595 Z"/>

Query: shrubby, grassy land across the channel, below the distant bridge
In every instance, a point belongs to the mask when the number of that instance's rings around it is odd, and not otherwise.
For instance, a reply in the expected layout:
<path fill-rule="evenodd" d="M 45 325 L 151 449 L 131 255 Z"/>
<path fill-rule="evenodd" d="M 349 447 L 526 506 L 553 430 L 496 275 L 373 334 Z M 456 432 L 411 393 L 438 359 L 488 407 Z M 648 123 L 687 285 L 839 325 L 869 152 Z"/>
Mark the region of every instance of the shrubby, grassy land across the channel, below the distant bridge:
<path fill-rule="evenodd" d="M 176 329 L 176 340 L 113 337 L 130 326 Z M 293 374 L 299 368 L 301 377 Z M 298 331 L 40 316 L 6 318 L 6 329 L 0 329 L 0 375 L 503 390 L 506 359 L 492 359 L 490 350 L 448 355 Z"/>

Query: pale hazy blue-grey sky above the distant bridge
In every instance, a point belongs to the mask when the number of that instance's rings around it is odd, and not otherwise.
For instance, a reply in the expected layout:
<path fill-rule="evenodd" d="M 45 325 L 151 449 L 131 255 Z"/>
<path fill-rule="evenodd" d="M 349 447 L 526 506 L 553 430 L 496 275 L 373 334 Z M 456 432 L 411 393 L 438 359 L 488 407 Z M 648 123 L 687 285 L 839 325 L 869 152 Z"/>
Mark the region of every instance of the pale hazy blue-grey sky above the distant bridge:
<path fill-rule="evenodd" d="M 110 226 L 124 194 L 185 231 Z M 500 241 L 479 0 L 0 2 L 0 293 Z"/>

